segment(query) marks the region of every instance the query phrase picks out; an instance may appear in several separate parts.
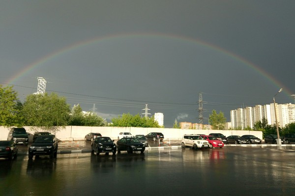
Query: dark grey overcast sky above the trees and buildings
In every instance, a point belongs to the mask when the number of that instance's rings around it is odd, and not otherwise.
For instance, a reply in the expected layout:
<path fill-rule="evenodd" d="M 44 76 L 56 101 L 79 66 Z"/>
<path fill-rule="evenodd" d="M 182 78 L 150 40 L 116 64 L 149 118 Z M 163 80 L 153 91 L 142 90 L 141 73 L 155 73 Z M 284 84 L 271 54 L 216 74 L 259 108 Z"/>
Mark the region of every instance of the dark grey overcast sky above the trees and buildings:
<path fill-rule="evenodd" d="M 80 104 L 108 122 L 294 103 L 295 0 L 0 0 L 0 84 Z"/>

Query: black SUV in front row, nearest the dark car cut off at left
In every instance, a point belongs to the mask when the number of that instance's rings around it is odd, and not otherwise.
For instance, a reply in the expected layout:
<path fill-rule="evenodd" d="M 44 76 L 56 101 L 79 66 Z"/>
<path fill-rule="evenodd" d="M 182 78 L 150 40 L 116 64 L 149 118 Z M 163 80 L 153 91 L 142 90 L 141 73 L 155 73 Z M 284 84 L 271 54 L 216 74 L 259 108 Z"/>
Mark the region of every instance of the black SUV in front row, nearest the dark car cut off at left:
<path fill-rule="evenodd" d="M 55 135 L 41 135 L 29 147 L 29 159 L 32 159 L 34 155 L 49 155 L 52 159 L 57 157 L 57 153 L 58 140 Z"/>

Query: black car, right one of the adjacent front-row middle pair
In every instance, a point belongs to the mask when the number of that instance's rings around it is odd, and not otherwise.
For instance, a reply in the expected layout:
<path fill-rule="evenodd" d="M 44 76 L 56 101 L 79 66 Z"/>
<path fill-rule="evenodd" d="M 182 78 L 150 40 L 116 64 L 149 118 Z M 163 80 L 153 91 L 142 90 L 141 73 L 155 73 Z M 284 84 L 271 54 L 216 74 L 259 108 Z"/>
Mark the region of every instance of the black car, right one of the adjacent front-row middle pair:
<path fill-rule="evenodd" d="M 135 139 L 134 137 L 124 137 L 117 142 L 118 153 L 127 150 L 128 153 L 133 151 L 145 151 L 146 147 L 143 143 Z"/>

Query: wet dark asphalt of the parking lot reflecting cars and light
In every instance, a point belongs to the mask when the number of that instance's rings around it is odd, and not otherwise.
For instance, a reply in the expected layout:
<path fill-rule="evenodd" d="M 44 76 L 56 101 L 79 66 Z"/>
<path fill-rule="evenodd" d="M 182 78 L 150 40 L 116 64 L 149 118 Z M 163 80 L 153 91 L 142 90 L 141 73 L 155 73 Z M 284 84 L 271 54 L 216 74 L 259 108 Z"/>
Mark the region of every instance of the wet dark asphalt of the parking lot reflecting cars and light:
<path fill-rule="evenodd" d="M 0 159 L 5 196 L 293 196 L 295 149 L 151 148 L 115 156 Z"/>

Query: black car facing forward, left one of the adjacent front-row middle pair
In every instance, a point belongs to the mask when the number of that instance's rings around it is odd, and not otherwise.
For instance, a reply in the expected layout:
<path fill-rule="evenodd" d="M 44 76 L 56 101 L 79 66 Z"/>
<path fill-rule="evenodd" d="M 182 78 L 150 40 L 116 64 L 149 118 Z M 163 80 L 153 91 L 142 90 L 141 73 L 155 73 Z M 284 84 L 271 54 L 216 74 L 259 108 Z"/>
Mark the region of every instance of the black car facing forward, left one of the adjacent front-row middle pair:
<path fill-rule="evenodd" d="M 113 155 L 116 155 L 117 147 L 114 143 L 114 140 L 112 140 L 109 137 L 96 137 L 91 142 L 91 154 L 96 153 L 96 155 L 99 155 L 100 153 L 106 153 L 106 155 L 109 154 L 109 152 L 112 152 Z"/>

